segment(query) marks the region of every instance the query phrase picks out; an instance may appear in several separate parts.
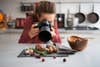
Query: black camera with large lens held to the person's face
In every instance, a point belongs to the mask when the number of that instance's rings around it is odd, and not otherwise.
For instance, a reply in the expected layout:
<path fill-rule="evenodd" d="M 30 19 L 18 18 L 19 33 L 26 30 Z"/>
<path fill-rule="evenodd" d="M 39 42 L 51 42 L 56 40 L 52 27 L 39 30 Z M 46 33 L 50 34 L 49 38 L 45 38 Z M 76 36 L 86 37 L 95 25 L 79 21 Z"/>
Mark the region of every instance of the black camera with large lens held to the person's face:
<path fill-rule="evenodd" d="M 38 23 L 37 27 L 39 28 L 40 32 L 38 34 L 39 39 L 42 42 L 48 42 L 52 39 L 51 31 L 51 24 L 48 20 L 42 20 Z"/>

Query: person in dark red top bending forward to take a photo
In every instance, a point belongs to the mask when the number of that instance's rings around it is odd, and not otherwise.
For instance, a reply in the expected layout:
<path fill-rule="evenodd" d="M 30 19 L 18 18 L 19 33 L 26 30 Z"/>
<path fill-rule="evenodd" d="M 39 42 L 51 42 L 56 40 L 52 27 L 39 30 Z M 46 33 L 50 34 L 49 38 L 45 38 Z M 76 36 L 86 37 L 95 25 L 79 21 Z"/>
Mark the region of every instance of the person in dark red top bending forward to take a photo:
<path fill-rule="evenodd" d="M 38 25 L 37 23 L 42 23 L 44 19 L 51 24 L 51 41 L 61 43 L 57 22 L 55 21 L 55 4 L 49 1 L 40 1 L 36 7 L 35 15 L 38 18 L 38 22 L 34 22 L 33 17 L 26 18 L 25 28 L 19 39 L 19 43 L 43 43 L 38 37 L 40 30 L 36 26 Z M 44 36 L 44 38 L 45 37 L 46 36 Z"/>

